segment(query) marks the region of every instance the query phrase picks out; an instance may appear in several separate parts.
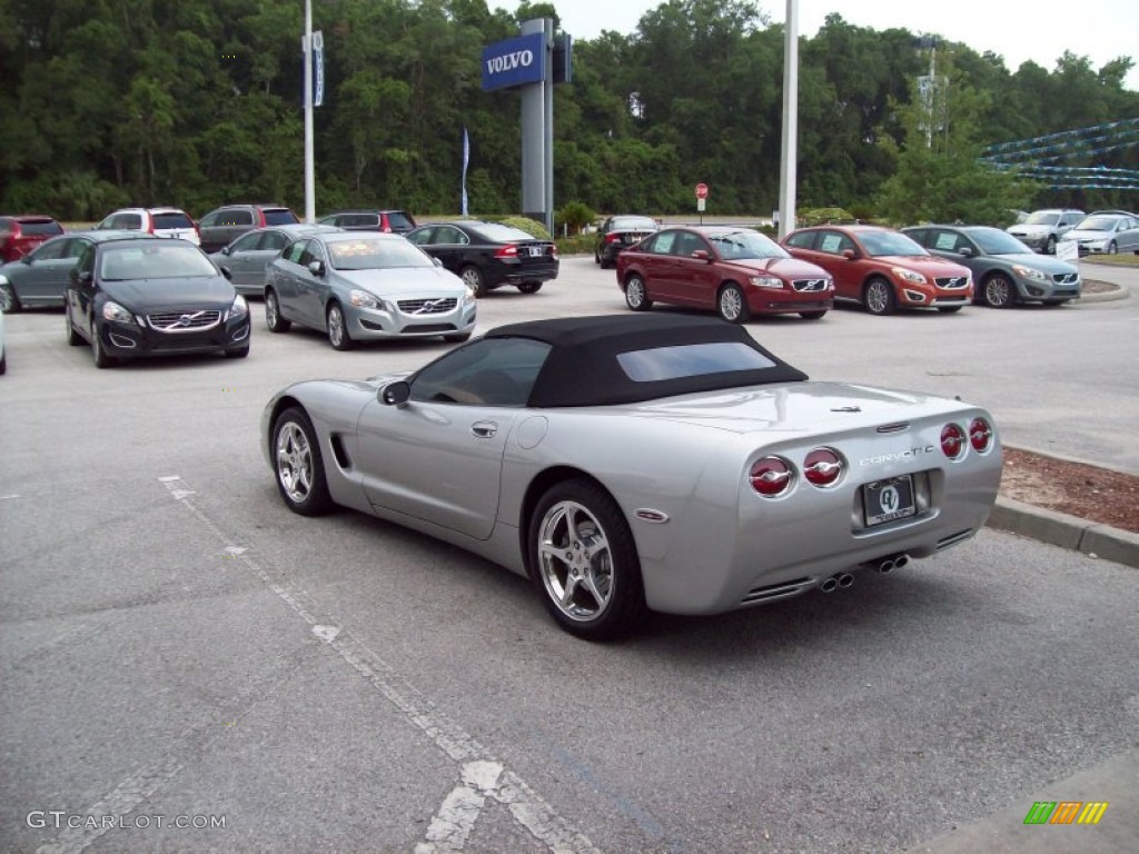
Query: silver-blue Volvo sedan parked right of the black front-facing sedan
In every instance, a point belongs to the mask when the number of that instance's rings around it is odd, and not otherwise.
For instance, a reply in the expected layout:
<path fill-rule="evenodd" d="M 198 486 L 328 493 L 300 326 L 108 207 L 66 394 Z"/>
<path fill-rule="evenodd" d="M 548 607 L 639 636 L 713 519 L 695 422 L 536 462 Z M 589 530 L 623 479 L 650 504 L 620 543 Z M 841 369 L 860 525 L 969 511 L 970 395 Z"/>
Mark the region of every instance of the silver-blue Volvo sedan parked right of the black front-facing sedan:
<path fill-rule="evenodd" d="M 475 291 L 400 235 L 301 237 L 265 273 L 265 322 L 328 332 L 336 350 L 382 338 L 470 337 Z"/>

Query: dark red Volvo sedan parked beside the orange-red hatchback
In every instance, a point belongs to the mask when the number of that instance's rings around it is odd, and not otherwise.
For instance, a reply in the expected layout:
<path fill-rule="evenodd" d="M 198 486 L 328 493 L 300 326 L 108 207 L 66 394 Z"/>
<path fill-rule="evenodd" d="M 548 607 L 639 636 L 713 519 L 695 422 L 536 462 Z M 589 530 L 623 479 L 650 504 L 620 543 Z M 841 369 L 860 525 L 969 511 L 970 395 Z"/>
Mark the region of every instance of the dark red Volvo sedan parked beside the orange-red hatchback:
<path fill-rule="evenodd" d="M 818 320 L 834 294 L 826 271 L 736 225 L 663 229 L 617 255 L 617 285 L 633 311 L 671 303 L 718 311 L 732 323 L 752 314 Z"/>

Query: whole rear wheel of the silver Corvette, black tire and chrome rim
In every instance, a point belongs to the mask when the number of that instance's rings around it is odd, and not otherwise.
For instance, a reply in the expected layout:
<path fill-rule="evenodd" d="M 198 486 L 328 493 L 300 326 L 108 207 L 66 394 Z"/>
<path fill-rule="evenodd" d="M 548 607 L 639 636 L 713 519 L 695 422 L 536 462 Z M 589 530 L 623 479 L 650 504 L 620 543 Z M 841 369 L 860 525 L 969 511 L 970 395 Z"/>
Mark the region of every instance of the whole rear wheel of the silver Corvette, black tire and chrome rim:
<path fill-rule="evenodd" d="M 645 618 L 645 585 L 629 523 L 592 481 L 564 481 L 546 491 L 530 517 L 526 549 L 542 603 L 571 634 L 611 640 Z"/>

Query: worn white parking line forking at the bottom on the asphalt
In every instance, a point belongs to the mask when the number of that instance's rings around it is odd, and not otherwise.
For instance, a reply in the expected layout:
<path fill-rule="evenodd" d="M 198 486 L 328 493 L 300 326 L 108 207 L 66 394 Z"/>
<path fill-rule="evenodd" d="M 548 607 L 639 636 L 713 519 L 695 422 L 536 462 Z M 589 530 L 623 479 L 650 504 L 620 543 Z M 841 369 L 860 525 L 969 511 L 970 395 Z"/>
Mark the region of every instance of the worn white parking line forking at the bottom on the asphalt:
<path fill-rule="evenodd" d="M 244 564 L 309 624 L 316 637 L 331 647 L 357 673 L 400 709 L 410 723 L 423 730 L 439 749 L 461 763 L 461 782 L 451 789 L 443 800 L 427 828 L 425 841 L 416 846 L 416 854 L 462 851 L 487 797 L 503 804 L 515 821 L 554 854 L 601 854 L 589 837 L 575 831 L 525 780 L 508 770 L 483 745 L 440 712 L 380 656 L 334 621 L 318 621 L 313 616 L 313 611 L 318 609 L 310 602 L 309 594 L 303 590 L 276 582 L 246 553 L 244 547 L 231 542 L 221 527 L 189 500 L 197 493 L 189 488 L 180 476 L 170 475 L 158 479 L 174 500 L 197 517 L 222 542 L 228 556 Z"/>

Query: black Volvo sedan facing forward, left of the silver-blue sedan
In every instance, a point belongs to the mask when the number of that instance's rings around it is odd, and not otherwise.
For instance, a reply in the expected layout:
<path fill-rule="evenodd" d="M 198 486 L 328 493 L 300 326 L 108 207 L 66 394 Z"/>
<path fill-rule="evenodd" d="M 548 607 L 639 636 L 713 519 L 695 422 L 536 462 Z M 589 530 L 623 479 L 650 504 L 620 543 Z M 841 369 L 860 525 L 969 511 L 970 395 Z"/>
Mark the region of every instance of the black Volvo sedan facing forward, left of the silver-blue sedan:
<path fill-rule="evenodd" d="M 245 297 L 185 240 L 92 244 L 69 278 L 67 343 L 90 342 L 97 368 L 153 355 L 249 354 Z"/>

